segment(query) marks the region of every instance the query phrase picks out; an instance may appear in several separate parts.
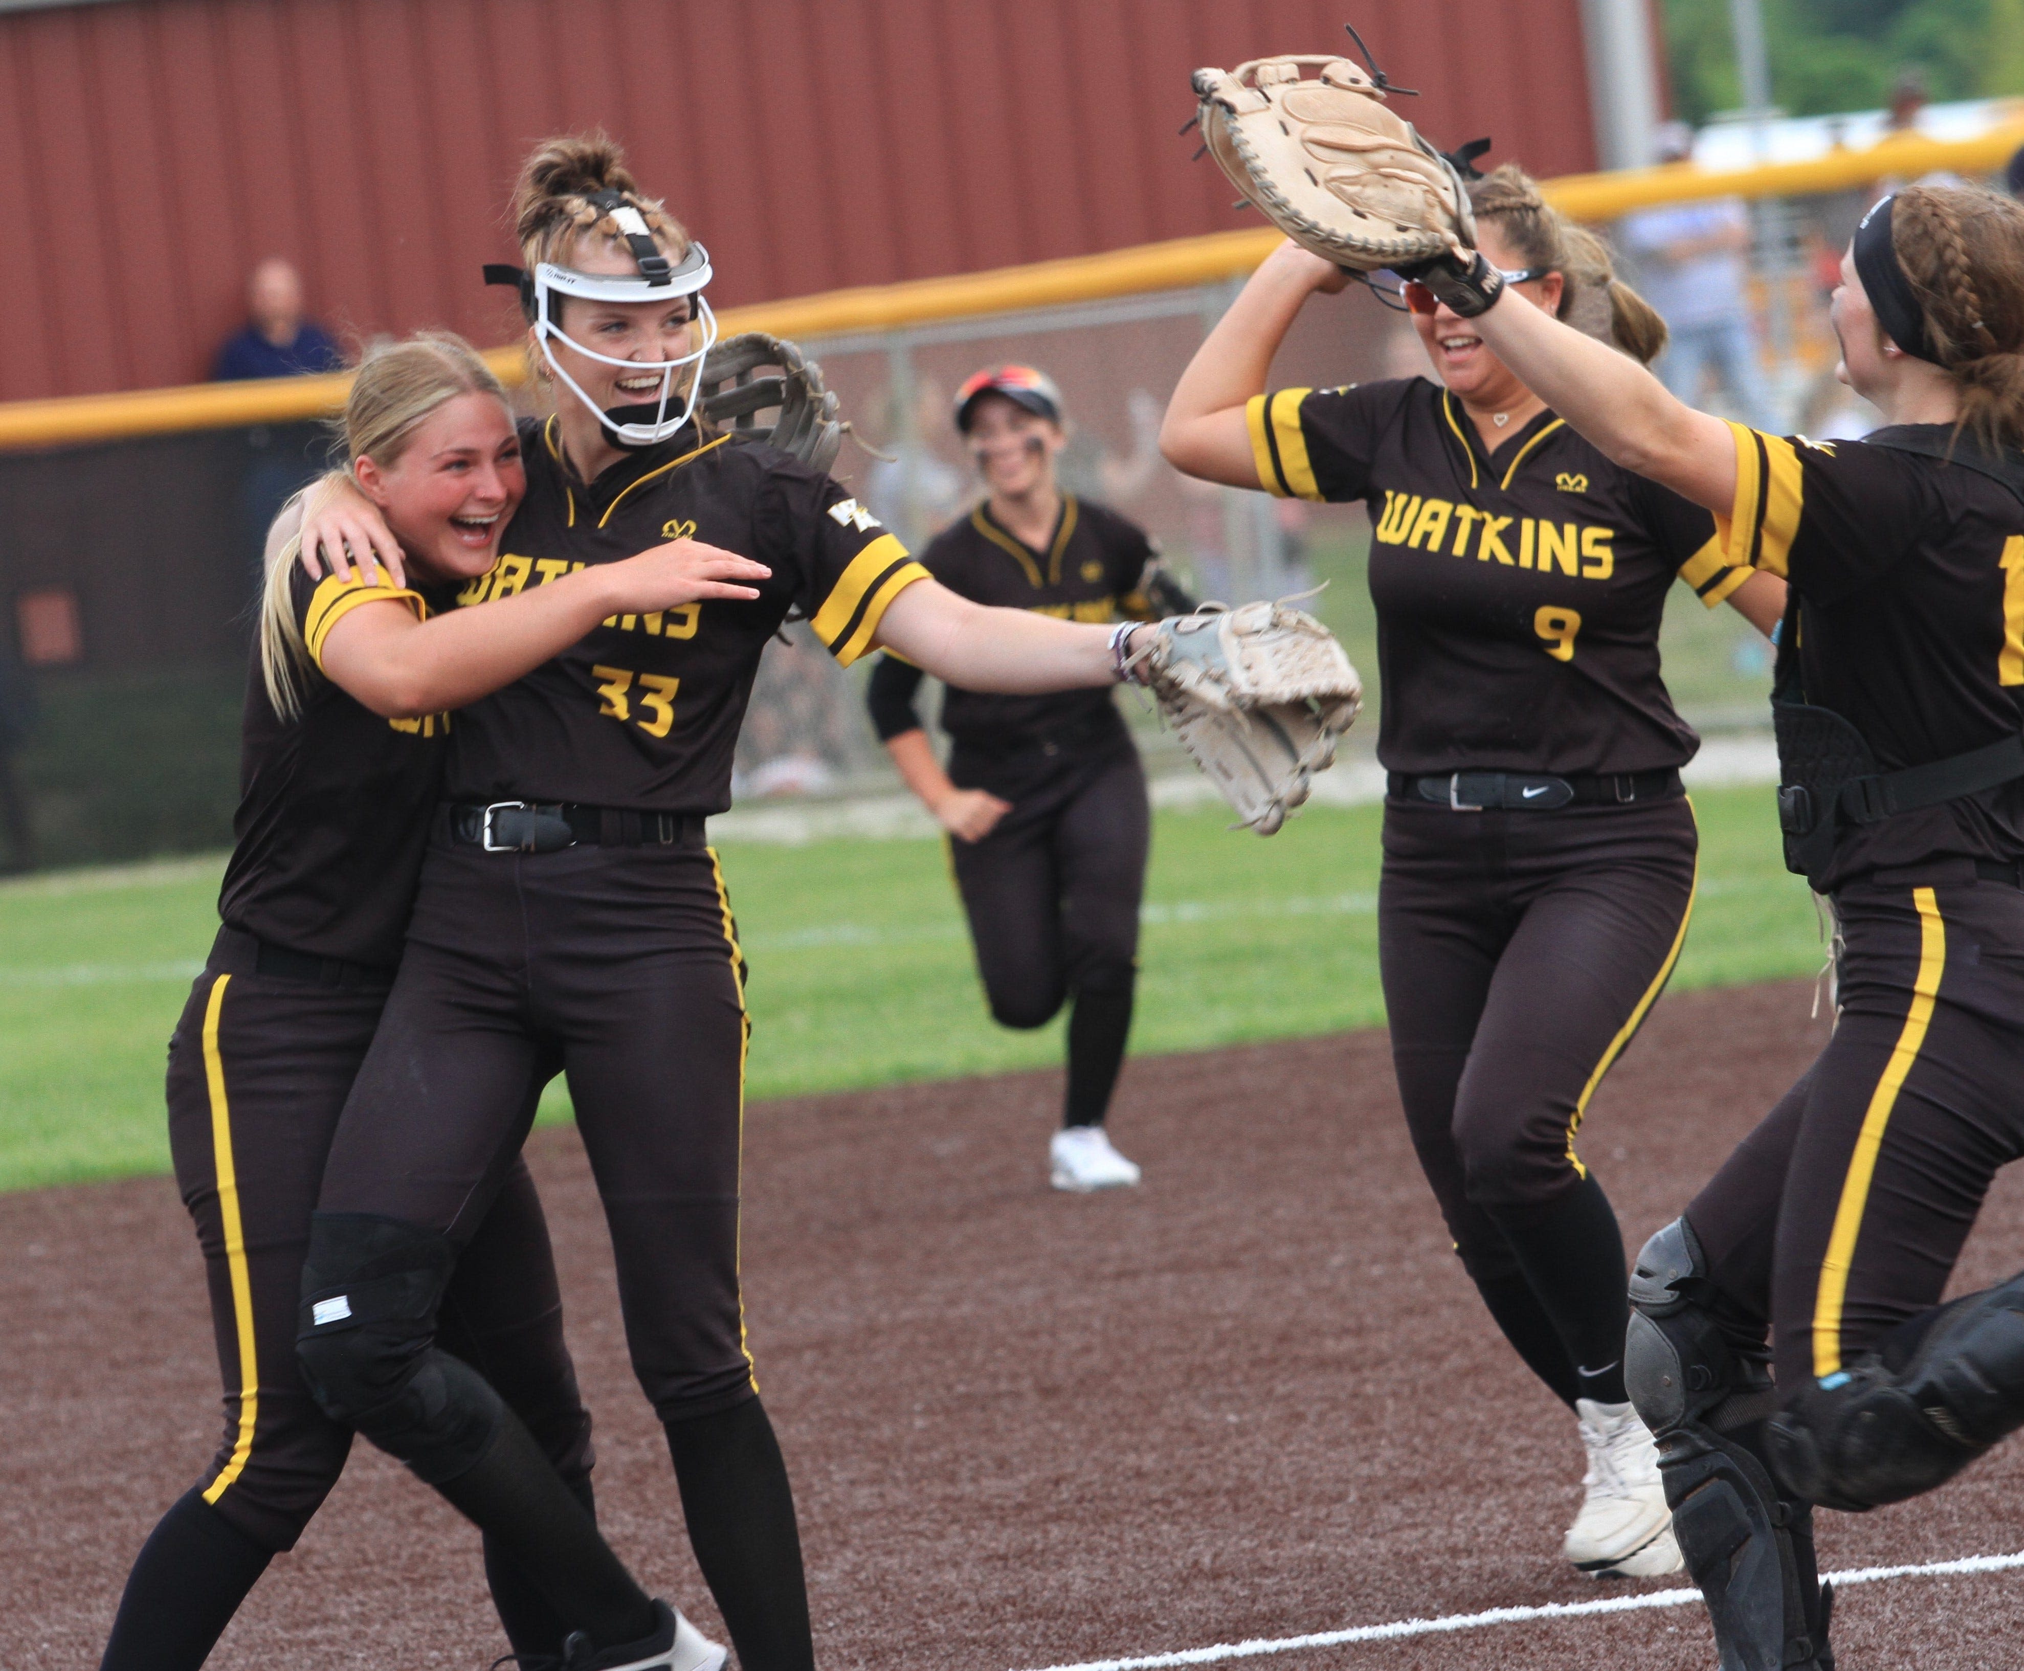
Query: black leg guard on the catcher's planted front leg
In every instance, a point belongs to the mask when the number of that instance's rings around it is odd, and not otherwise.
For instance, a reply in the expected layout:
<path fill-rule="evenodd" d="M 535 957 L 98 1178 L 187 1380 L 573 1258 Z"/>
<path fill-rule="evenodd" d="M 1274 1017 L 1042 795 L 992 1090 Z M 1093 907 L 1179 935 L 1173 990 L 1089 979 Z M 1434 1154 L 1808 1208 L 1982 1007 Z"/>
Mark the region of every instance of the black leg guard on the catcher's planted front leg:
<path fill-rule="evenodd" d="M 1811 1521 L 1805 1505 L 1779 1497 L 1749 1442 L 1777 1408 L 1765 1351 L 1720 1327 L 1684 1218 L 1637 1254 L 1623 1370 L 1658 1438 L 1674 1537 L 1714 1622 L 1722 1671 L 1830 1671 Z"/>

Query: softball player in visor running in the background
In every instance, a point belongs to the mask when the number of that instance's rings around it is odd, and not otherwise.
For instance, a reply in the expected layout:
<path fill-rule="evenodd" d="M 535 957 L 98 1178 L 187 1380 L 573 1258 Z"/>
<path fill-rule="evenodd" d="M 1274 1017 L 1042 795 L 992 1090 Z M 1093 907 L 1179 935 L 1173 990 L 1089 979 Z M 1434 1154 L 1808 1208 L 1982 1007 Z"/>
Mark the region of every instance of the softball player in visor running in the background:
<path fill-rule="evenodd" d="M 955 394 L 988 498 L 921 554 L 976 603 L 1069 621 L 1184 615 L 1192 601 L 1158 575 L 1152 540 L 1117 512 L 1063 494 L 1061 390 L 1032 366 L 992 366 Z M 1160 607 L 1144 587 L 1160 589 Z M 951 688 L 943 771 L 921 730 L 921 670 L 878 657 L 870 712 L 907 787 L 953 838 L 949 862 L 969 916 L 992 1016 L 1042 1028 L 1073 993 L 1069 1092 L 1048 1147 L 1057 1190 L 1111 1190 L 1140 1169 L 1103 1131 L 1131 1032 L 1137 916 L 1152 819 L 1146 773 L 1103 690 L 990 696 Z"/>

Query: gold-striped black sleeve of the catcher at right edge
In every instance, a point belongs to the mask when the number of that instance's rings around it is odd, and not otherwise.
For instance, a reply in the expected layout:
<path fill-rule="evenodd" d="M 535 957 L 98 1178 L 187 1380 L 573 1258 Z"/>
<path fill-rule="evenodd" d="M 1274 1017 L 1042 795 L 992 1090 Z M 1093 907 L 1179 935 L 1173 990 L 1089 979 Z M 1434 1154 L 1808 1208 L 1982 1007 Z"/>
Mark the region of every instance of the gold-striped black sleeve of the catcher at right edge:
<path fill-rule="evenodd" d="M 1888 447 L 1807 441 L 1731 423 L 1737 498 L 1716 518 L 1728 562 L 1787 577 L 1832 601 L 1909 556 L 1939 508 L 1929 477 Z"/>

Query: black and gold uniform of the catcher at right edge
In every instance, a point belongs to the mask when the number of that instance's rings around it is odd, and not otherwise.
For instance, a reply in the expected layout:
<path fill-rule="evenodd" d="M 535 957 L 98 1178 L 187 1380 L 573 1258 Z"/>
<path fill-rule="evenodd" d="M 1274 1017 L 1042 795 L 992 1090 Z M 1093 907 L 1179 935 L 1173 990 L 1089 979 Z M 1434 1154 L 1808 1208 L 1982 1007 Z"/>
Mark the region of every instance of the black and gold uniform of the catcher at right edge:
<path fill-rule="evenodd" d="M 1731 550 L 1799 595 L 1805 702 L 1884 771 L 2024 730 L 2024 504 L 1892 445 L 1943 427 L 1735 435 Z M 1787 1400 L 1939 1303 L 2024 1153 L 2024 781 L 1842 827 L 1826 884 L 1834 1038 L 1686 1214 Z"/>

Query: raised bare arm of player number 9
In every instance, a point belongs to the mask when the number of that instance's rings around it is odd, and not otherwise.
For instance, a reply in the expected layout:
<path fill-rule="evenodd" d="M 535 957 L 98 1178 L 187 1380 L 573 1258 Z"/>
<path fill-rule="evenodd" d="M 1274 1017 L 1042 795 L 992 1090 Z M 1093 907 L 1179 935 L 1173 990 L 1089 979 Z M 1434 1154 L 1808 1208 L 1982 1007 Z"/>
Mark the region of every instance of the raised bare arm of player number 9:
<path fill-rule="evenodd" d="M 1257 488 L 1245 403 L 1265 392 L 1271 358 L 1316 291 L 1334 295 L 1350 281 L 1340 267 L 1283 243 L 1251 275 L 1174 384 L 1160 425 L 1160 451 L 1182 475 Z"/>

